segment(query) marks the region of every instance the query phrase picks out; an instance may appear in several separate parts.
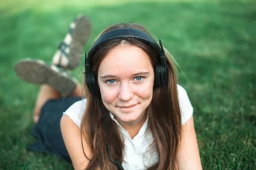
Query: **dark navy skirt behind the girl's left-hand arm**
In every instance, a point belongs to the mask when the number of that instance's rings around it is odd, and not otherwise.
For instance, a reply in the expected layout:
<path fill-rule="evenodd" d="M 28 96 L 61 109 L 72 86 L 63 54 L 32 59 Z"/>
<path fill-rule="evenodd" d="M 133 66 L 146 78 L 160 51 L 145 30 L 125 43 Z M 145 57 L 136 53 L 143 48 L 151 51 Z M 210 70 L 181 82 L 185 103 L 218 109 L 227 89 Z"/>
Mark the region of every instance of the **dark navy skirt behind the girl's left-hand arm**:
<path fill-rule="evenodd" d="M 38 123 L 31 131 L 36 142 L 30 144 L 27 148 L 29 150 L 56 154 L 71 162 L 61 135 L 60 120 L 63 112 L 79 100 L 81 100 L 81 97 L 77 96 L 48 100 L 41 109 Z"/>

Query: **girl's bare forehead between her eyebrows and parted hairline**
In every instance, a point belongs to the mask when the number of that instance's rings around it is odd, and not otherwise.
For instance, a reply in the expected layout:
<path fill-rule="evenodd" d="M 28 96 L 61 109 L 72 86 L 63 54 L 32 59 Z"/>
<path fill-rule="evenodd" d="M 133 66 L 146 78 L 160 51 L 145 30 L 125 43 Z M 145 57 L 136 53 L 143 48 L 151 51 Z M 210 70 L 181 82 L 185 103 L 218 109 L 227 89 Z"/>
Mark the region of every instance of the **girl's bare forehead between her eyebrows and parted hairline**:
<path fill-rule="evenodd" d="M 152 71 L 148 55 L 134 45 L 119 45 L 111 49 L 99 65 L 99 75 L 127 75 Z"/>

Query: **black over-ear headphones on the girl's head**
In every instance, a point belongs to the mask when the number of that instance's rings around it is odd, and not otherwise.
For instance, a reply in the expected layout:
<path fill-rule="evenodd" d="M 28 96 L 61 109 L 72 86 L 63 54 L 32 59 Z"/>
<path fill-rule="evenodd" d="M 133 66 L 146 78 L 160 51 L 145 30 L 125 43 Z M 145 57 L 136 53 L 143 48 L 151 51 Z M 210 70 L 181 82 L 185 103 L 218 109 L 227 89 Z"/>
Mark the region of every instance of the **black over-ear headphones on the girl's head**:
<path fill-rule="evenodd" d="M 108 31 L 105 34 L 102 34 L 92 45 L 88 56 L 85 51 L 85 60 L 84 60 L 84 69 L 85 69 L 85 83 L 93 95 L 100 96 L 100 90 L 97 85 L 97 75 L 95 72 L 90 69 L 90 57 L 93 53 L 99 48 L 102 43 L 108 42 L 114 39 L 127 39 L 133 38 L 139 40 L 147 45 L 150 45 L 156 51 L 157 55 L 160 58 L 160 65 L 157 65 L 154 70 L 154 85 L 157 87 L 162 87 L 168 84 L 167 79 L 167 64 L 166 56 L 163 50 L 163 45 L 161 40 L 159 40 L 160 46 L 157 42 L 150 37 L 148 34 L 145 34 L 142 31 L 131 29 L 131 28 L 120 28 L 112 31 Z"/>

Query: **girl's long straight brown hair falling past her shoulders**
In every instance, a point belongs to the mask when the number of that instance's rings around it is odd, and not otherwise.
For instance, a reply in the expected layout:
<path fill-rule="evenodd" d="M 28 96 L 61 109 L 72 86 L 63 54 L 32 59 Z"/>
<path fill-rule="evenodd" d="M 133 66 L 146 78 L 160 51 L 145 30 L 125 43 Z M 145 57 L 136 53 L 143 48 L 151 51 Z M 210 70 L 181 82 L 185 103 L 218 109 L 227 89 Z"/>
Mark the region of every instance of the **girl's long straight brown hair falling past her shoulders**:
<path fill-rule="evenodd" d="M 140 24 L 126 23 L 118 23 L 109 26 L 102 31 L 100 35 L 118 28 L 133 28 L 150 35 Z M 160 59 L 153 48 L 139 40 L 134 40 L 132 37 L 125 38 L 125 40 L 126 44 L 138 46 L 145 51 L 149 56 L 153 68 L 160 64 Z M 111 40 L 101 45 L 101 48 L 91 56 L 92 71 L 98 73 L 99 65 L 108 51 L 121 43 L 123 43 L 123 41 L 119 39 Z M 154 138 L 153 143 L 159 155 L 159 162 L 148 167 L 147 170 L 173 170 L 177 168 L 176 159 L 181 136 L 181 115 L 177 96 L 175 67 L 170 60 L 171 56 L 168 51 L 166 51 L 166 57 L 169 83 L 167 86 L 163 87 L 154 86 L 152 101 L 146 111 L 148 114 L 147 130 L 151 130 Z M 87 97 L 87 106 L 81 120 L 81 135 L 84 135 L 92 151 L 92 157 L 89 159 L 90 163 L 86 170 L 96 170 L 98 168 L 101 170 L 117 170 L 116 165 L 108 158 L 106 131 L 103 124 L 102 113 L 99 108 L 99 102 L 101 102 L 108 128 L 111 159 L 120 160 L 122 162 L 124 141 L 120 135 L 119 128 L 111 119 L 110 112 L 103 105 L 102 99 L 93 96 L 85 83 L 84 90 Z"/>

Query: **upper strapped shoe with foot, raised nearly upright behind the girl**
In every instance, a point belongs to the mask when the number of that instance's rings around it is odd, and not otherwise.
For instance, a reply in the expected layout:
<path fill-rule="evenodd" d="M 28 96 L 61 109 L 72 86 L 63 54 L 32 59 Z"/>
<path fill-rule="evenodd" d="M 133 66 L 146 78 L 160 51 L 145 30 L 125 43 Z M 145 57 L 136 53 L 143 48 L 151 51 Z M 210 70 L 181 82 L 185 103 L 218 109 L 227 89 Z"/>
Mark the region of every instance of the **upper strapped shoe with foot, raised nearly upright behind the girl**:
<path fill-rule="evenodd" d="M 91 23 L 88 17 L 79 15 L 70 23 L 69 32 L 58 45 L 52 63 L 57 67 L 76 69 L 81 64 L 82 48 L 90 37 Z"/>

